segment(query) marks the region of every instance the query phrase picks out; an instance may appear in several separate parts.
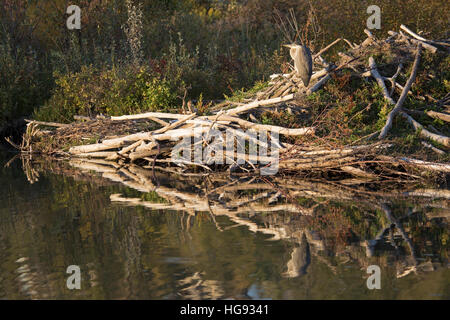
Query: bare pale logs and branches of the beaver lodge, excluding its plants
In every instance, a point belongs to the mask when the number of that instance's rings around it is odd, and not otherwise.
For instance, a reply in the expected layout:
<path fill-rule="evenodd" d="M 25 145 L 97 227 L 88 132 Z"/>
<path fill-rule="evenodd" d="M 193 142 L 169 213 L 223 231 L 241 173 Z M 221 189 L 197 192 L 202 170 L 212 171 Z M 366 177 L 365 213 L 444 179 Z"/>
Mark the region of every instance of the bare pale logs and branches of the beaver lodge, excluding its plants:
<path fill-rule="evenodd" d="M 387 117 L 387 122 L 384 128 L 380 132 L 374 132 L 372 135 L 365 137 L 364 140 L 369 140 L 378 136 L 379 139 L 383 139 L 388 134 L 389 129 L 392 127 L 393 119 L 396 115 L 401 115 L 413 128 L 420 132 L 420 135 L 436 141 L 445 147 L 450 146 L 450 138 L 442 134 L 433 133 L 425 129 L 420 123 L 413 119 L 413 111 L 407 110 L 402 107 L 406 96 L 410 94 L 411 86 L 413 85 L 417 69 L 420 63 L 421 52 L 423 49 L 431 52 L 436 52 L 438 49 L 448 51 L 450 44 L 447 42 L 436 42 L 427 40 L 405 26 L 401 26 L 399 32 L 390 32 L 389 37 L 384 40 L 376 39 L 372 33 L 365 30 L 368 38 L 361 44 L 352 44 L 346 39 L 337 39 L 324 49 L 320 50 L 313 56 L 317 71 L 312 75 L 310 85 L 305 87 L 300 78 L 295 72 L 289 74 L 273 75 L 269 87 L 258 92 L 251 101 L 245 103 L 237 103 L 232 101 L 226 101 L 211 108 L 213 114 L 208 116 L 200 116 L 195 112 L 190 114 L 174 114 L 174 113 L 162 113 L 162 112 L 149 112 L 135 115 L 113 116 L 109 120 L 112 122 L 126 122 L 133 125 L 133 121 L 136 120 L 151 120 L 161 125 L 160 128 L 152 131 L 137 132 L 133 134 L 105 138 L 102 141 L 95 144 L 78 145 L 69 149 L 67 156 L 71 158 L 82 159 L 102 159 L 106 161 L 114 161 L 119 166 L 126 163 L 136 163 L 142 167 L 150 166 L 155 168 L 156 164 L 164 164 L 169 167 L 175 165 L 181 167 L 182 170 L 186 170 L 192 167 L 201 167 L 206 171 L 211 171 L 213 168 L 208 164 L 206 159 L 203 159 L 202 163 L 195 162 L 193 160 L 173 161 L 171 153 L 175 145 L 183 138 L 198 138 L 201 137 L 200 143 L 205 148 L 213 142 L 213 137 L 209 133 L 214 131 L 221 132 L 223 139 L 223 147 L 225 149 L 225 132 L 232 132 L 236 136 L 240 136 L 246 141 L 255 140 L 253 135 L 249 134 L 249 130 L 263 131 L 268 133 L 270 139 L 270 133 L 278 133 L 283 136 L 304 136 L 315 135 L 316 128 L 311 125 L 304 128 L 285 128 L 274 125 L 261 124 L 260 121 L 253 115 L 253 111 L 257 109 L 266 109 L 273 107 L 285 106 L 289 102 L 294 102 L 295 99 L 301 96 L 307 96 L 318 89 L 320 89 L 329 79 L 332 74 L 338 72 L 343 68 L 350 68 L 359 74 L 361 77 L 373 77 L 378 85 L 383 90 L 383 95 L 387 103 L 393 106 L 392 111 Z M 340 41 L 344 41 L 350 49 L 346 53 L 340 53 L 340 61 L 337 64 L 328 63 L 322 57 L 322 54 L 330 49 Z M 396 50 L 406 50 L 406 52 L 412 52 L 415 50 L 414 64 L 412 66 L 411 75 L 409 80 L 404 86 L 401 86 L 396 82 L 397 77 L 402 72 L 402 64 L 400 63 L 397 72 L 390 78 L 386 78 L 380 75 L 377 70 L 377 65 L 373 57 L 369 58 L 369 65 L 367 66 L 365 61 L 362 61 L 361 57 L 367 55 L 367 50 L 371 46 L 383 47 L 392 49 L 394 46 L 400 47 Z M 319 68 L 317 68 L 319 66 Z M 389 81 L 391 84 L 391 90 L 386 87 L 385 82 Z M 392 94 L 395 89 L 401 89 L 401 95 L 398 101 L 394 101 Z M 444 98 L 441 103 L 443 108 L 447 108 L 450 97 Z M 440 119 L 442 121 L 449 122 L 450 115 L 448 110 L 442 112 L 429 111 L 427 115 Z M 252 121 L 243 119 L 245 118 Z M 29 130 L 24 137 L 24 144 L 22 151 L 32 152 L 32 136 L 38 130 L 37 126 L 59 126 L 59 124 L 42 123 L 37 121 L 31 121 L 29 123 Z M 241 130 L 243 129 L 243 130 Z M 67 130 L 67 128 L 66 128 Z M 28 136 L 27 136 L 28 135 Z M 257 145 L 261 146 L 261 141 L 253 141 Z M 267 162 L 278 161 L 279 168 L 284 171 L 341 171 L 347 174 L 365 178 L 365 179 L 377 179 L 380 176 L 379 170 L 381 165 L 389 164 L 390 166 L 406 166 L 406 167 L 420 167 L 422 169 L 428 169 L 432 171 L 450 172 L 450 165 L 429 163 L 425 161 L 419 161 L 408 158 L 394 158 L 387 156 L 379 156 L 382 150 L 389 148 L 387 143 L 375 143 L 362 146 L 347 146 L 339 149 L 329 148 L 317 148 L 317 147 L 305 147 L 304 145 L 292 146 L 287 143 L 276 142 L 279 147 L 279 157 L 271 158 L 266 157 Z M 423 142 L 425 146 L 429 147 L 437 153 L 445 153 L 427 142 Z M 258 166 L 255 166 L 255 162 L 249 158 L 248 155 L 239 154 L 233 152 L 227 154 L 225 157 L 232 159 L 232 164 L 227 166 L 228 169 L 235 171 L 240 168 L 243 171 L 258 171 Z M 245 164 L 238 164 L 238 158 L 245 159 Z M 255 159 L 253 159 L 255 160 Z M 226 162 L 226 161 L 224 161 Z M 227 162 L 228 163 L 228 162 Z M 370 167 L 370 170 L 364 168 Z M 221 169 L 223 169 L 222 167 Z M 214 169 L 217 169 L 215 167 Z M 392 171 L 392 170 L 391 170 Z M 400 174 L 399 171 L 396 171 Z"/>

